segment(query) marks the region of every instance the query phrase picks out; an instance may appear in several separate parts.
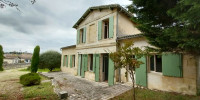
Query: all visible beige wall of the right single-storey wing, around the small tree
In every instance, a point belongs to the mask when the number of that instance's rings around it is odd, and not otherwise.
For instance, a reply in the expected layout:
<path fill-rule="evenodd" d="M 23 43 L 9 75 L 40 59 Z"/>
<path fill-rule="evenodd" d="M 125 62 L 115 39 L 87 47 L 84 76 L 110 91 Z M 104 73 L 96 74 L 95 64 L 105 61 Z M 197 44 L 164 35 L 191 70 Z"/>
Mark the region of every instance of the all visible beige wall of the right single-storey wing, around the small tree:
<path fill-rule="evenodd" d="M 123 44 L 125 41 L 134 41 L 134 47 L 143 48 L 143 46 L 150 46 L 145 38 L 135 38 L 122 40 L 120 43 Z M 159 72 L 148 71 L 147 73 L 147 87 L 149 89 L 157 89 L 170 92 L 185 93 L 190 95 L 196 94 L 196 67 L 195 58 L 190 55 L 183 55 L 183 77 L 169 77 L 164 76 Z M 147 64 L 147 70 L 149 70 Z M 121 69 L 121 81 L 131 82 L 130 76 L 125 77 L 125 69 Z"/>

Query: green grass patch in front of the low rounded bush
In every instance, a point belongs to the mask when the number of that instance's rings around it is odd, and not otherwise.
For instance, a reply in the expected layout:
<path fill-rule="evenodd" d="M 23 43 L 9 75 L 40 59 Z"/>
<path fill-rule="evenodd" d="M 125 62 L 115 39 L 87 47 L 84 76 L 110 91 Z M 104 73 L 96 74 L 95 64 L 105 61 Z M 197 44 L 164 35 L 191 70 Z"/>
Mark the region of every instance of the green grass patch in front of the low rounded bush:
<path fill-rule="evenodd" d="M 25 99 L 46 99 L 57 100 L 58 96 L 53 91 L 51 82 L 41 83 L 31 87 L 24 87 L 23 95 Z"/>

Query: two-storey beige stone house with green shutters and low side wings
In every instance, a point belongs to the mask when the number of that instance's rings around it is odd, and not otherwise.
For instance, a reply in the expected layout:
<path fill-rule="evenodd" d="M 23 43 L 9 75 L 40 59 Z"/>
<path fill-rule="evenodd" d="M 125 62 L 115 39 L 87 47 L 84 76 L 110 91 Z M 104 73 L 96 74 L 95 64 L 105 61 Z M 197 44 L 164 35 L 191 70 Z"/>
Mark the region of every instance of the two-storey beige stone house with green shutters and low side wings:
<path fill-rule="evenodd" d="M 96 82 L 130 82 L 125 69 L 114 70 L 109 53 L 117 51 L 117 43 L 134 41 L 135 47 L 151 46 L 130 20 L 133 17 L 120 5 L 90 7 L 75 23 L 77 43 L 61 48 L 61 70 Z M 152 53 L 141 59 L 136 69 L 136 84 L 163 91 L 195 95 L 197 65 L 187 54 Z"/>

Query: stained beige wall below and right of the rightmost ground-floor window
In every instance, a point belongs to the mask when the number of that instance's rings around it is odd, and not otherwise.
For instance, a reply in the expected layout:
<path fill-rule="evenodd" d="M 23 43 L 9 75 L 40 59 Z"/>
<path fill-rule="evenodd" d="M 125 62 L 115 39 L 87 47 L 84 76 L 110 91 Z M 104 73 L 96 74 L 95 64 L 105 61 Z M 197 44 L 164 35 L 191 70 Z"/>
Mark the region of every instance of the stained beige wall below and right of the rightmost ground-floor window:
<path fill-rule="evenodd" d="M 167 77 L 162 73 L 148 73 L 148 88 L 171 92 L 196 94 L 196 64 L 190 55 L 183 56 L 183 78 Z"/>

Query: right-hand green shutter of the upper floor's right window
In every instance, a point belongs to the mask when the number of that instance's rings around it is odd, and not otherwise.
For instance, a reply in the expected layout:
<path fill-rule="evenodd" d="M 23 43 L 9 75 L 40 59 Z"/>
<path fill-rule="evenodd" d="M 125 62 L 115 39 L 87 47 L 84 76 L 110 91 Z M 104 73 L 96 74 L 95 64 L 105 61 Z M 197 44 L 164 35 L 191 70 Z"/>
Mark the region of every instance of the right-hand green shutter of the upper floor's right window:
<path fill-rule="evenodd" d="M 113 38 L 114 34 L 114 16 L 109 18 L 109 38 Z"/>

